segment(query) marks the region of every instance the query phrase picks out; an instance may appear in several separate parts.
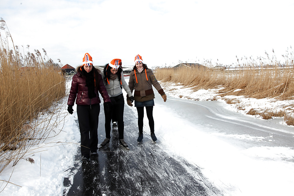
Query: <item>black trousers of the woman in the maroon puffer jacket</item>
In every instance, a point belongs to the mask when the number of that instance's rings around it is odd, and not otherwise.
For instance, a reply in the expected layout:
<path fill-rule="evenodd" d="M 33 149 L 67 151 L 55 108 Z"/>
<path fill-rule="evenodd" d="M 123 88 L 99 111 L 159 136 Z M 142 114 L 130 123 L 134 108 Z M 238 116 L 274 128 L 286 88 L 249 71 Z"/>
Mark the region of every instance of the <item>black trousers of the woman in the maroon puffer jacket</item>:
<path fill-rule="evenodd" d="M 82 157 L 90 158 L 90 152 L 98 149 L 98 120 L 100 105 L 77 105 L 78 125 L 81 133 Z"/>

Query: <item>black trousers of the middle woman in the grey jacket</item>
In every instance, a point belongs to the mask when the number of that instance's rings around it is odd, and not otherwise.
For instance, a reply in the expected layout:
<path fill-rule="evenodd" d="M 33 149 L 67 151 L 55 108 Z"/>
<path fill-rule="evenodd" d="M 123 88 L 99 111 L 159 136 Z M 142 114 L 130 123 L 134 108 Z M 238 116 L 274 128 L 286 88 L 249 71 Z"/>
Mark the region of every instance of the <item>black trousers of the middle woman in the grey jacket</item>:
<path fill-rule="evenodd" d="M 104 110 L 105 114 L 105 134 L 106 138 L 110 139 L 110 131 L 111 131 L 111 118 L 114 115 L 117 120 L 117 128 L 118 128 L 118 139 L 123 139 L 123 110 L 125 101 L 123 99 L 123 94 L 114 97 L 116 103 L 111 105 L 111 110 Z"/>

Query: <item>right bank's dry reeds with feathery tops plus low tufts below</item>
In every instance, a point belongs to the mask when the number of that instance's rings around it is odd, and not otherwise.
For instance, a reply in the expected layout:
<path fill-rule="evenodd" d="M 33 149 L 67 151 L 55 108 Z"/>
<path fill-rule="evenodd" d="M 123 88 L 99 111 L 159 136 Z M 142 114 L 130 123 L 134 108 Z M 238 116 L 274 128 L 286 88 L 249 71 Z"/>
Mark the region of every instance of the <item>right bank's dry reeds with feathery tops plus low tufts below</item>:
<path fill-rule="evenodd" d="M 291 48 L 292 49 L 292 48 Z M 274 53 L 274 51 L 273 51 Z M 212 71 L 209 68 L 189 68 L 183 67 L 174 69 L 171 67 L 156 68 L 155 74 L 158 80 L 162 82 L 180 83 L 186 87 L 193 87 L 197 91 L 199 89 L 220 88 L 218 91 L 221 97 L 234 95 L 245 96 L 251 98 L 275 98 L 277 100 L 293 100 L 294 99 L 294 63 L 293 52 L 283 55 L 285 61 L 281 63 L 277 61 L 275 56 L 269 58 L 259 57 L 253 60 L 251 57 L 244 58 L 245 63 L 238 59 L 238 69 L 229 68 L 226 71 Z M 206 65 L 204 63 L 204 65 Z M 209 64 L 209 66 L 212 66 Z M 236 100 L 226 100 L 229 104 L 237 103 Z M 242 108 L 243 109 L 243 108 Z M 256 115 L 254 110 L 250 110 L 249 114 Z M 270 119 L 273 116 L 283 116 L 276 114 L 278 112 L 264 111 L 261 115 L 264 119 Z M 283 112 L 281 112 L 283 113 Z M 285 113 L 283 113 L 285 114 Z M 288 115 L 285 121 L 290 125 L 290 121 L 294 121 L 293 116 Z"/>

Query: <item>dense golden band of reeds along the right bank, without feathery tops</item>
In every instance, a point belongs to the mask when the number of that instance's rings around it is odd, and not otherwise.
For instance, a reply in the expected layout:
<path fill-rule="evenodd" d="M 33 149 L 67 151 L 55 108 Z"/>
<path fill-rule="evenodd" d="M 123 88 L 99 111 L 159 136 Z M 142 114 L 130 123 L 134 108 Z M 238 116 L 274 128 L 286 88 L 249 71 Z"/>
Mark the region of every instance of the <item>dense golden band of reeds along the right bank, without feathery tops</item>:
<path fill-rule="evenodd" d="M 201 88 L 222 88 L 221 96 L 237 95 L 252 98 L 277 98 L 280 100 L 294 99 L 294 69 L 263 67 L 212 71 L 211 69 L 198 69 L 183 67 L 156 68 L 156 78 L 163 82 L 171 81 L 186 86 L 194 86 L 195 90 Z M 235 91 L 237 90 L 238 91 Z"/>

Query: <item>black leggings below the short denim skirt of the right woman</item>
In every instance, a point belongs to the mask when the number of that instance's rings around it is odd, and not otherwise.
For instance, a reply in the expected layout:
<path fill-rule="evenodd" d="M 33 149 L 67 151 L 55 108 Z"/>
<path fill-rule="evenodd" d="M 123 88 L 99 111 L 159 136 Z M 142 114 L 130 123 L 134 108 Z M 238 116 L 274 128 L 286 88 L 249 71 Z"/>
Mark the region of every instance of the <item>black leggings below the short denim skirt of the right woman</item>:
<path fill-rule="evenodd" d="M 139 133 L 143 133 L 143 118 L 144 118 L 144 107 L 136 107 L 138 111 L 138 127 Z M 149 120 L 149 127 L 151 133 L 154 133 L 154 120 L 153 120 L 153 106 L 146 106 L 146 114 Z"/>

